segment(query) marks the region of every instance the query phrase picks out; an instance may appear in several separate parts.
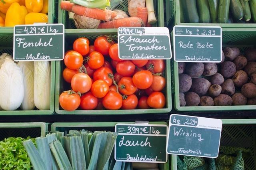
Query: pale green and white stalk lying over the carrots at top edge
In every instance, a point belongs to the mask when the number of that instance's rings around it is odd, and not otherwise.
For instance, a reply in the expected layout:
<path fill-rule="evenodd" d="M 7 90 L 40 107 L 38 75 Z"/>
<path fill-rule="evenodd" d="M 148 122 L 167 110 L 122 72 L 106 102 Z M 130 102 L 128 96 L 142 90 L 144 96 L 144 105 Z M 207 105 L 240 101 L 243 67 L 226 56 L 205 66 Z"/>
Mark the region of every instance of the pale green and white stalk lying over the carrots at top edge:
<path fill-rule="evenodd" d="M 86 8 L 103 8 L 104 6 L 110 6 L 109 0 L 70 0 L 70 2 Z"/>

